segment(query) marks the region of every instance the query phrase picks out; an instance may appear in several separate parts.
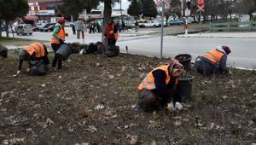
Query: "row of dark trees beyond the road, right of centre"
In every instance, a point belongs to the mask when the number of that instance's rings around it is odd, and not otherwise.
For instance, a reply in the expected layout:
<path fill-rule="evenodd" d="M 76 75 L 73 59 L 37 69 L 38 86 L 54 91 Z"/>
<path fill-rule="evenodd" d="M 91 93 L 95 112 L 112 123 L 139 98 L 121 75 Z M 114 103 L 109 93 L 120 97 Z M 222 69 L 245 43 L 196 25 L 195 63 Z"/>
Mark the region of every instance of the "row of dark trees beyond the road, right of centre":
<path fill-rule="evenodd" d="M 130 0 L 131 4 L 128 9 L 128 14 L 139 17 L 155 17 L 154 4 L 143 4 L 143 3 L 152 3 L 153 0 Z M 172 8 L 166 9 L 165 15 L 166 19 L 171 15 L 175 18 L 176 16 L 181 18 L 181 2 L 180 0 L 168 0 L 171 3 Z M 154 1 L 153 1 L 154 2 Z M 191 16 L 194 19 L 199 19 L 198 0 L 191 0 L 190 11 Z M 231 17 L 231 14 L 249 14 L 250 18 L 253 17 L 253 12 L 256 12 L 256 0 L 205 0 L 204 11 L 201 12 L 201 16 L 204 20 L 207 19 L 207 16 L 210 16 L 210 20 L 217 20 L 218 16 L 223 18 Z M 147 7 L 151 7 L 148 9 Z M 187 8 L 186 0 L 183 0 L 183 11 Z M 148 14 L 149 13 L 149 14 Z"/>

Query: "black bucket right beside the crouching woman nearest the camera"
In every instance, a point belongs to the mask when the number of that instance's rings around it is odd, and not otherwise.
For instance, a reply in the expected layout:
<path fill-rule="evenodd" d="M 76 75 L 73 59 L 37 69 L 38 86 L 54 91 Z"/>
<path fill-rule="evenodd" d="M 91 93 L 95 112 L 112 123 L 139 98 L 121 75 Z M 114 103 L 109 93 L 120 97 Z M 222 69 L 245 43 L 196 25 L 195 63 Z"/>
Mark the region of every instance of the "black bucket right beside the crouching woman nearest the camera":
<path fill-rule="evenodd" d="M 192 94 L 192 81 L 194 79 L 194 76 L 191 75 L 185 75 L 181 78 L 178 78 L 177 86 L 179 88 L 179 94 L 183 98 L 183 101 L 186 99 L 191 98 Z"/>

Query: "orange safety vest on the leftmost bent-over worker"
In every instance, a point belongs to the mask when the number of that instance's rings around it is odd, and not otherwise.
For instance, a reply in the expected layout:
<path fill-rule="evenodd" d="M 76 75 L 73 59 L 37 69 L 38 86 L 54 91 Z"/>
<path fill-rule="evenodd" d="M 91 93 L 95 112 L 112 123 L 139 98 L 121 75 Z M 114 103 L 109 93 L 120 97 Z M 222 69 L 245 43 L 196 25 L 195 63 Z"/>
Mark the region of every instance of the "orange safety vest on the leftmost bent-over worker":
<path fill-rule="evenodd" d="M 41 43 L 33 43 L 28 46 L 25 46 L 26 52 L 29 55 L 33 55 L 35 53 L 36 58 L 40 58 L 45 55 L 44 45 Z"/>

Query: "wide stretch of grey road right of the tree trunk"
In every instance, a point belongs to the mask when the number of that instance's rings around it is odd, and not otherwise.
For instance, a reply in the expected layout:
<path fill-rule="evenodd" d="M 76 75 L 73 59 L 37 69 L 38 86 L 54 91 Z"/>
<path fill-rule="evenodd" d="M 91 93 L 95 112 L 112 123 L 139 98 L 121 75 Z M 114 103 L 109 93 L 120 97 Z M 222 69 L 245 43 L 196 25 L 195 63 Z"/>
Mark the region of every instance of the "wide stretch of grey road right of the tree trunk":
<path fill-rule="evenodd" d="M 218 45 L 230 46 L 231 53 L 228 56 L 230 67 L 243 67 L 256 69 L 256 38 L 177 38 L 165 37 L 163 44 L 163 55 L 175 57 L 178 54 L 192 55 L 192 61 L 198 55 L 205 54 L 208 50 Z M 121 50 L 139 55 L 160 56 L 160 37 L 144 38 L 139 40 L 119 42 Z"/>

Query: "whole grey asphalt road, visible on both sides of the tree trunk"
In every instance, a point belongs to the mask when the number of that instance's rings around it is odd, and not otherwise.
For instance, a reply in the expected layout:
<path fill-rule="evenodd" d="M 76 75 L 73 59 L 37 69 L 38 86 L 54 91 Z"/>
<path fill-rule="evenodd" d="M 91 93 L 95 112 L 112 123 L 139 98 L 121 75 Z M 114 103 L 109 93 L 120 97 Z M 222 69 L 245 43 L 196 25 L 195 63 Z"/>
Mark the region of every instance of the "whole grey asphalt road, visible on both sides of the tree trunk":
<path fill-rule="evenodd" d="M 77 39 L 73 35 L 71 29 L 66 29 L 69 37 L 67 43 L 80 42 L 82 39 Z M 33 32 L 32 36 L 18 36 L 18 38 L 32 38 L 38 40 L 50 40 L 51 32 Z M 17 37 L 15 35 L 15 37 Z M 99 33 L 85 34 L 84 43 L 97 42 L 102 40 L 102 35 Z M 176 36 L 164 37 L 163 55 L 165 57 L 175 57 L 178 54 L 192 55 L 192 61 L 198 55 L 203 55 L 208 50 L 215 48 L 218 45 L 228 45 L 232 50 L 228 57 L 228 65 L 230 67 L 243 67 L 256 69 L 256 38 L 177 38 Z M 138 55 L 160 56 L 160 37 L 159 36 L 129 36 L 119 37 L 117 45 L 120 50 L 126 52 L 125 47 L 128 47 L 128 53 Z"/>

